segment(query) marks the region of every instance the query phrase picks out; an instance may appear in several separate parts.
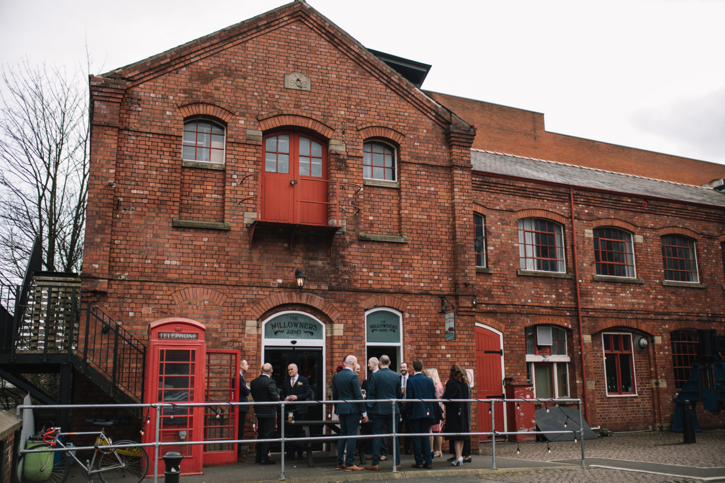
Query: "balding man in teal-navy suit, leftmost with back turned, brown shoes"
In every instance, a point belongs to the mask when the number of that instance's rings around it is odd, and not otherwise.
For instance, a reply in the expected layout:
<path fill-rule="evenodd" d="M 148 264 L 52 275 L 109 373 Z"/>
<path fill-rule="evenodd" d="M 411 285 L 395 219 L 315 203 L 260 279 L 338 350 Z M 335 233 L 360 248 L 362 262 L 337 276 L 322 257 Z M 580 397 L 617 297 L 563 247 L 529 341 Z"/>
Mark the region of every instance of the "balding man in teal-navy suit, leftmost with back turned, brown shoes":
<path fill-rule="evenodd" d="M 343 364 L 344 369 L 332 379 L 332 398 L 334 400 L 363 400 L 363 394 L 360 392 L 360 379 L 357 379 L 357 374 L 355 374 L 357 357 L 347 356 Z M 335 414 L 340 420 L 340 436 L 357 435 L 360 413 L 363 414 L 362 421 L 368 422 L 368 413 L 363 410 L 362 403 L 338 403 L 335 405 Z M 337 442 L 335 469 L 362 470 L 355 464 L 355 438 L 340 439 Z"/>

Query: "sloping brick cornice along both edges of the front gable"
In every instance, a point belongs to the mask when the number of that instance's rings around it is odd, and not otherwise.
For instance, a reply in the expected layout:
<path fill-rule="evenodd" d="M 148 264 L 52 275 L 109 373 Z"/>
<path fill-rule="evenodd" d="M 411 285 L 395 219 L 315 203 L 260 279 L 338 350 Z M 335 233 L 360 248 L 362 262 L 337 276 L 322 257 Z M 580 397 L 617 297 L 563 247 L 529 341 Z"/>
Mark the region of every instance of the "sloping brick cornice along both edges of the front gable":
<path fill-rule="evenodd" d="M 415 87 L 410 80 L 407 80 L 404 75 L 396 72 L 381 59 L 378 59 L 376 55 L 371 54 L 360 42 L 356 41 L 344 30 L 341 30 L 323 14 L 310 7 L 304 0 L 295 0 L 277 9 L 257 15 L 257 17 L 252 17 L 249 20 L 244 20 L 151 56 L 148 59 L 106 72 L 96 76 L 93 83 L 98 85 L 102 77 L 107 82 L 115 80 L 117 83 L 118 80 L 125 80 L 128 87 L 131 87 L 297 21 L 304 22 L 312 30 L 315 30 L 316 33 L 336 46 L 339 51 L 349 56 L 353 62 L 365 68 L 387 88 L 413 104 L 439 125 L 455 124 L 459 130 L 463 128 L 463 130 L 473 131 L 471 125 L 468 125 L 467 122 L 460 119 L 449 109 L 427 96 L 423 91 Z"/>

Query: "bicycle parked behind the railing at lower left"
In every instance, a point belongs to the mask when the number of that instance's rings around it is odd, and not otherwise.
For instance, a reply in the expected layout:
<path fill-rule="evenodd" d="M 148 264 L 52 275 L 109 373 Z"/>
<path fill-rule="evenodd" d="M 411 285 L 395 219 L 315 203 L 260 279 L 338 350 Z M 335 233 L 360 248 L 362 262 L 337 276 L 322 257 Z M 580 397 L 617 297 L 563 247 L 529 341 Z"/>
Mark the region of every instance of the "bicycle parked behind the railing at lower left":
<path fill-rule="evenodd" d="M 108 427 L 112 421 L 96 421 L 94 424 Z M 93 432 L 60 432 L 60 428 L 41 429 L 38 434 L 28 439 L 28 450 L 42 448 L 68 448 L 60 437 L 73 435 L 96 434 L 94 453 L 86 464 L 71 451 L 45 451 L 42 453 L 23 453 L 17 463 L 17 482 L 50 482 L 63 483 L 68 477 L 70 458 L 73 458 L 83 469 L 87 479 L 98 474 L 104 483 L 115 483 L 123 479 L 124 483 L 141 483 L 149 471 L 149 456 L 138 442 L 120 440 L 112 442 L 106 436 L 105 428 Z M 107 448 L 110 445 L 128 445 L 123 448 Z M 134 446 L 136 445 L 136 446 Z M 42 448 L 41 448 L 42 447 Z M 96 461 L 97 458 L 97 461 Z"/>

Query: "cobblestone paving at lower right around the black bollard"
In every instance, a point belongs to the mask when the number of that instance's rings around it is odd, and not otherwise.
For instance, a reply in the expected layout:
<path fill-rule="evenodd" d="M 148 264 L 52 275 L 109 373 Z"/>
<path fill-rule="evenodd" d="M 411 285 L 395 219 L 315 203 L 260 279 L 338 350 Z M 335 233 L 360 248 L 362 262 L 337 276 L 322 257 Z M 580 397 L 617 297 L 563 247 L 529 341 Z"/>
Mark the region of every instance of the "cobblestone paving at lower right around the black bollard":
<path fill-rule="evenodd" d="M 682 444 L 682 434 L 672 432 L 618 433 L 612 437 L 586 440 L 584 451 L 587 458 L 610 458 L 626 461 L 647 461 L 700 468 L 725 468 L 725 431 L 708 431 L 696 434 L 697 443 Z M 501 458 L 517 458 L 527 461 L 559 461 L 581 459 L 581 448 L 572 442 L 550 443 L 551 454 L 546 443 L 521 443 L 521 454 L 516 454 L 515 443 L 496 445 L 496 455 Z M 481 453 L 491 454 L 491 445 L 481 446 Z M 722 475 L 725 480 L 725 469 Z M 639 473 L 616 469 L 574 466 L 568 468 L 527 470 L 521 472 L 502 471 L 501 474 L 481 476 L 482 482 L 510 483 L 568 483 L 592 482 L 611 483 L 624 481 L 634 483 L 702 482 L 698 479 L 683 479 L 678 476 Z"/>

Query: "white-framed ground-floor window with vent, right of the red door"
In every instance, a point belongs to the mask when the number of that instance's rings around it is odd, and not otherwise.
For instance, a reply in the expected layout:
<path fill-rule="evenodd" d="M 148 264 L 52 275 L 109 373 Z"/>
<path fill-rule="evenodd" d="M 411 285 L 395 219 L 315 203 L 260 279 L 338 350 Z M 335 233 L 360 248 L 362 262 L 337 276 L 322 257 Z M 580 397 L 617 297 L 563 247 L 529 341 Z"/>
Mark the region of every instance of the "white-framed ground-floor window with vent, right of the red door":
<path fill-rule="evenodd" d="M 566 330 L 554 325 L 532 325 L 526 335 L 526 379 L 535 398 L 569 397 Z"/>

